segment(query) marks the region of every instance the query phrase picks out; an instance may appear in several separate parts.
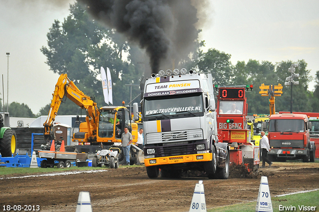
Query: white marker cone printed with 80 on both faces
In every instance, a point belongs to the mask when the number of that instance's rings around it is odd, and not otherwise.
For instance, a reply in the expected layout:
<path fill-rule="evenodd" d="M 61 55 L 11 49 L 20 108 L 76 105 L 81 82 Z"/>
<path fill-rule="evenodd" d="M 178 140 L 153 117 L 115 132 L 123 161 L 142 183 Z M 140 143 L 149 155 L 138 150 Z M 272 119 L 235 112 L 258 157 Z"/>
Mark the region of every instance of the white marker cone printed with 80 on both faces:
<path fill-rule="evenodd" d="M 199 181 L 194 190 L 189 212 L 206 212 L 205 193 L 203 181 Z"/>

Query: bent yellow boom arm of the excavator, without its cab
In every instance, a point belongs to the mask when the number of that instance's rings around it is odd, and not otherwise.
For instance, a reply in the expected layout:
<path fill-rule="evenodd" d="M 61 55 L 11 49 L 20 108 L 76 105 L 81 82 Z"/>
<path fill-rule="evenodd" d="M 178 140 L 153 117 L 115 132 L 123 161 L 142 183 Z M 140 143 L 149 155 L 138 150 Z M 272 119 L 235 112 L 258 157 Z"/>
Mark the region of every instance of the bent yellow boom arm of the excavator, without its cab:
<path fill-rule="evenodd" d="M 44 137 L 46 139 L 52 140 L 54 135 L 52 133 L 52 127 L 57 116 L 57 112 L 63 102 L 63 98 L 66 97 L 70 99 L 72 102 L 77 104 L 82 109 L 86 110 L 86 123 L 88 129 L 88 138 L 94 139 L 96 136 L 96 129 L 98 125 L 99 119 L 99 109 L 91 97 L 85 95 L 82 91 L 80 91 L 76 85 L 71 81 L 67 74 L 61 74 L 59 77 L 55 89 L 53 99 L 50 105 L 50 111 L 47 117 L 47 120 L 44 122 Z"/>

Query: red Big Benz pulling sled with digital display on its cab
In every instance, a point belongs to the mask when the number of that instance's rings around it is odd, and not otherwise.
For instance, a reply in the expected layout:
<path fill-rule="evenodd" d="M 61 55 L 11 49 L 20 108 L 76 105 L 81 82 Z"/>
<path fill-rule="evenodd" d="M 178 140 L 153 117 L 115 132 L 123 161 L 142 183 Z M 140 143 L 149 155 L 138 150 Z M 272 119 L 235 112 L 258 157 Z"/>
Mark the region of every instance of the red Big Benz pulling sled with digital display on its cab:
<path fill-rule="evenodd" d="M 217 129 L 218 142 L 230 146 L 229 160 L 231 165 L 244 165 L 248 172 L 254 172 L 259 167 L 259 146 L 251 139 L 251 129 L 247 119 L 246 92 L 253 85 L 218 87 L 217 96 Z"/>

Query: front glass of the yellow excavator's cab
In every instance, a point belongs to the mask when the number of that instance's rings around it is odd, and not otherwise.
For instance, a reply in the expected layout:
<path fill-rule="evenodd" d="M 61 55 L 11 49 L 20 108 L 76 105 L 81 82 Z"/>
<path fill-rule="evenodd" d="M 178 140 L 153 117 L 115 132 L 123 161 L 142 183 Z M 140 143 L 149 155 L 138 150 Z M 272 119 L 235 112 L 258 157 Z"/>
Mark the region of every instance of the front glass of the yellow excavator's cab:
<path fill-rule="evenodd" d="M 113 110 L 105 110 L 100 113 L 100 121 L 99 121 L 99 137 L 101 138 L 111 138 L 113 136 L 113 126 L 114 121 L 115 124 L 118 124 L 120 120 L 115 118 L 115 111 Z"/>

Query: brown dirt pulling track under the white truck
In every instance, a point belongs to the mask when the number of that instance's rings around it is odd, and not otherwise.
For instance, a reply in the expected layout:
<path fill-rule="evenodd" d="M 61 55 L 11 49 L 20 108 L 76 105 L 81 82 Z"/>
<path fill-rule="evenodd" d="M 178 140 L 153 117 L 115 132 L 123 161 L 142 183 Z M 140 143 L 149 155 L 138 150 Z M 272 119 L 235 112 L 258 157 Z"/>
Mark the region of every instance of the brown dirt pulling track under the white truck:
<path fill-rule="evenodd" d="M 93 212 L 186 212 L 199 180 L 209 209 L 256 201 L 262 175 L 268 177 L 272 197 L 319 189 L 319 163 L 275 162 L 273 168 L 259 169 L 255 178 L 238 178 L 233 170 L 228 180 L 149 179 L 144 166 L 120 166 L 94 174 L 0 176 L 0 210 L 3 205 L 39 205 L 41 212 L 74 212 L 79 192 L 89 191 Z"/>

